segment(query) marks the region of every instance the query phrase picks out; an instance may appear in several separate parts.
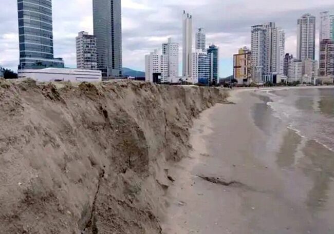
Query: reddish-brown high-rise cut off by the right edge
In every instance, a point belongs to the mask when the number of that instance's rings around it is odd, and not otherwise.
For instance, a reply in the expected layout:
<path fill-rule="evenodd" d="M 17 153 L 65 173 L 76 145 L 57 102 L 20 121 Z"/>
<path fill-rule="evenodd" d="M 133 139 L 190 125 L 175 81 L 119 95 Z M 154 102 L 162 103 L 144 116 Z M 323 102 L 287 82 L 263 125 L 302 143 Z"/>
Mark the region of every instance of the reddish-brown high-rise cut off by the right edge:
<path fill-rule="evenodd" d="M 320 42 L 319 76 L 334 76 L 334 42 Z"/>

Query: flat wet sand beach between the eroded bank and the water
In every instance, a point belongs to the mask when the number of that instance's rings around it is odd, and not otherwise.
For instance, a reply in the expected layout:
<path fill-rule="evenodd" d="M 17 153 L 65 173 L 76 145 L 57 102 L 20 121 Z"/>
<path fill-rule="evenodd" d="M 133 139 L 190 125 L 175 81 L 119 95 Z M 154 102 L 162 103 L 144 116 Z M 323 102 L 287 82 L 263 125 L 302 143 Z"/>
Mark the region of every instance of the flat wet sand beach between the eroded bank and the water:
<path fill-rule="evenodd" d="M 334 233 L 333 152 L 274 118 L 268 97 L 230 101 L 195 121 L 164 233 Z"/>

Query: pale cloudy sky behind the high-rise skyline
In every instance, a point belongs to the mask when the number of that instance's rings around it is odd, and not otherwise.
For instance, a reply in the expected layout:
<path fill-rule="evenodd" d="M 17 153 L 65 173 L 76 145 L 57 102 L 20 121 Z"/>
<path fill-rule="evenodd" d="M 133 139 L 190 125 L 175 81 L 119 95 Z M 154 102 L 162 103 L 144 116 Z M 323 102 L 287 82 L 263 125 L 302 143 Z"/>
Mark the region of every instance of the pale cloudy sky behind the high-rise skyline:
<path fill-rule="evenodd" d="M 54 56 L 76 67 L 75 37 L 93 33 L 92 0 L 53 0 Z M 0 66 L 17 70 L 17 1 L 0 0 Z M 144 70 L 144 55 L 172 37 L 182 50 L 182 13 L 193 15 L 193 34 L 205 28 L 207 44 L 219 46 L 219 76 L 233 74 L 233 54 L 250 46 L 252 25 L 275 22 L 286 32 L 286 53 L 296 54 L 296 22 L 304 13 L 334 14 L 333 0 L 122 0 L 123 67 Z M 181 63 L 181 56 L 180 56 Z"/>

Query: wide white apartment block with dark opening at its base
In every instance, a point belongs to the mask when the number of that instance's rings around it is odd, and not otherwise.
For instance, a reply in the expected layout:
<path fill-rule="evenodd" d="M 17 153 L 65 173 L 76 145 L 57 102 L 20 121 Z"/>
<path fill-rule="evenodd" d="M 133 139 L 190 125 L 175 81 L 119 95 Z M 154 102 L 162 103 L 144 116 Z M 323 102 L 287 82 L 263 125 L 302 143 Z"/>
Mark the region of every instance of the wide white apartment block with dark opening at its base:
<path fill-rule="evenodd" d="M 168 55 L 160 54 L 158 50 L 145 55 L 145 81 L 168 82 Z"/>

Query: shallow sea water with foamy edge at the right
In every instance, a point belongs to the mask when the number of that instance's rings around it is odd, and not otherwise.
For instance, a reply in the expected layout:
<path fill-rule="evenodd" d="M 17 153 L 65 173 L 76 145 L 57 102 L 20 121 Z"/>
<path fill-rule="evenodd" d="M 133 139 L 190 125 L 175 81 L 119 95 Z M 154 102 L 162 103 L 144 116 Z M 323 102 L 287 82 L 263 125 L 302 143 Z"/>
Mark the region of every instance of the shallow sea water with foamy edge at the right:
<path fill-rule="evenodd" d="M 334 151 L 334 88 L 268 91 L 274 116 L 307 140 Z"/>

